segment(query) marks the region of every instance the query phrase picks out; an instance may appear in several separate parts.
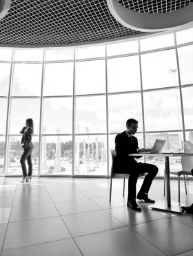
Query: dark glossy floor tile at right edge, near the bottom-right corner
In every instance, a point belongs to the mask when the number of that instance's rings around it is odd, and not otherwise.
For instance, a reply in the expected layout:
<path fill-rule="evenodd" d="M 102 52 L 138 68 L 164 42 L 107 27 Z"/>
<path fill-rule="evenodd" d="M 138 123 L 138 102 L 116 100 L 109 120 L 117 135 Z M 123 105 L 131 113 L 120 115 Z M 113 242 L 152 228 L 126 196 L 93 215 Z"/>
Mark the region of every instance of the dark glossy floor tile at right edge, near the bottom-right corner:
<path fill-rule="evenodd" d="M 172 218 L 150 221 L 129 228 L 167 255 L 176 255 L 193 249 L 193 229 Z"/>

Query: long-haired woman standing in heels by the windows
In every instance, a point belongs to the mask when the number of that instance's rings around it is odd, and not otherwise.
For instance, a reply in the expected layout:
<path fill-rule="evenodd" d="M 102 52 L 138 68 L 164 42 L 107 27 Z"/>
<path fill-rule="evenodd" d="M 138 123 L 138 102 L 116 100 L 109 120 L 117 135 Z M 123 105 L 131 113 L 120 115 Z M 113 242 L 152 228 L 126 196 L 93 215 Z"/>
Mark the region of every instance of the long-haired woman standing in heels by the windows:
<path fill-rule="evenodd" d="M 23 127 L 20 131 L 20 134 L 23 134 L 21 138 L 21 147 L 23 147 L 23 154 L 21 155 L 20 163 L 23 172 L 23 179 L 21 183 L 31 181 L 32 179 L 32 136 L 34 133 L 34 122 L 32 118 L 26 119 L 26 127 Z M 28 175 L 26 170 L 26 160 L 28 163 Z"/>

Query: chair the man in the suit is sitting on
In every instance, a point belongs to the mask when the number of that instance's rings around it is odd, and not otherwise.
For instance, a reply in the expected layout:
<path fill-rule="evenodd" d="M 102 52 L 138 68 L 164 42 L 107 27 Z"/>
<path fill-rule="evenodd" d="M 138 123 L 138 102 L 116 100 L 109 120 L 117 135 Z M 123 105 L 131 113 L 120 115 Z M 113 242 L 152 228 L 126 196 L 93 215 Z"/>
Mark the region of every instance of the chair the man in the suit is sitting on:
<path fill-rule="evenodd" d="M 111 194 L 112 194 L 112 178 L 123 178 L 123 196 L 125 196 L 125 178 L 129 178 L 130 174 L 117 174 L 115 170 L 115 159 L 116 159 L 116 150 L 110 150 L 112 155 L 112 166 L 111 166 L 111 172 L 110 172 L 110 199 L 111 201 Z M 144 174 L 139 174 L 139 177 L 145 176 Z"/>

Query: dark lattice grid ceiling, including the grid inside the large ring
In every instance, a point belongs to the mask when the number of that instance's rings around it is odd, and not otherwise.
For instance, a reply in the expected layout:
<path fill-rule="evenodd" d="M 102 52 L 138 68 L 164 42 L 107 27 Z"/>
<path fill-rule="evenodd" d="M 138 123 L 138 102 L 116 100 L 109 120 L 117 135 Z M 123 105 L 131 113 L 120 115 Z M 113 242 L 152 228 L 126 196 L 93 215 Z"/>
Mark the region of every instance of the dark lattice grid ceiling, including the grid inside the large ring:
<path fill-rule="evenodd" d="M 117 0 L 137 12 L 172 12 L 193 0 Z M 142 35 L 119 24 L 106 0 L 12 0 L 0 20 L 0 46 L 92 44 Z"/>

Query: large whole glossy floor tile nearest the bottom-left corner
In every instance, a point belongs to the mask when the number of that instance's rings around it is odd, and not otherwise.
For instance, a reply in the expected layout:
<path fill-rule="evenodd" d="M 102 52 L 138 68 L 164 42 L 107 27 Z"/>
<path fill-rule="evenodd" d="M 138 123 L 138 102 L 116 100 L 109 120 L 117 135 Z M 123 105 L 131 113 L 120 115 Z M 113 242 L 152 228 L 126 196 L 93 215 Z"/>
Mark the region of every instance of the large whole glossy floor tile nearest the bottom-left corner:
<path fill-rule="evenodd" d="M 33 219 L 8 224 L 3 250 L 70 238 L 61 217 Z"/>

